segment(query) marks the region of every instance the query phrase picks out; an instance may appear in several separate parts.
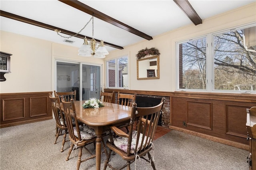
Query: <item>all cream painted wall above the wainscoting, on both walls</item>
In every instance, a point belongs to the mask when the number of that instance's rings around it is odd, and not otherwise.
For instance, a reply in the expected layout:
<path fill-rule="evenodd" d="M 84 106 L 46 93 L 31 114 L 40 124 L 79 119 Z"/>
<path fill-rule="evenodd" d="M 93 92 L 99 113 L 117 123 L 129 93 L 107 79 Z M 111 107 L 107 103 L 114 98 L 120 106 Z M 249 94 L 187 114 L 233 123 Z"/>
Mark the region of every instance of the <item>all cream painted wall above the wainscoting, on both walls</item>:
<path fill-rule="evenodd" d="M 238 8 L 225 14 L 203 20 L 203 24 L 193 24 L 144 40 L 140 43 L 115 50 L 105 60 L 128 55 L 130 57 L 129 75 L 132 90 L 175 91 L 176 89 L 176 57 L 175 43 L 218 30 L 232 28 L 242 24 L 256 22 L 256 3 Z M 178 18 L 177 18 L 178 22 Z M 164 23 L 163 23 L 164 24 Z M 105 73 L 104 59 L 80 57 L 78 48 L 57 43 L 21 36 L 9 32 L 0 32 L 0 51 L 11 53 L 11 73 L 6 73 L 6 81 L 0 82 L 0 93 L 19 93 L 53 91 L 55 88 L 55 61 L 78 61 L 100 64 Z M 125 40 L 124 40 L 125 41 Z M 136 54 L 146 47 L 156 47 L 160 51 L 160 79 L 137 80 Z"/>

